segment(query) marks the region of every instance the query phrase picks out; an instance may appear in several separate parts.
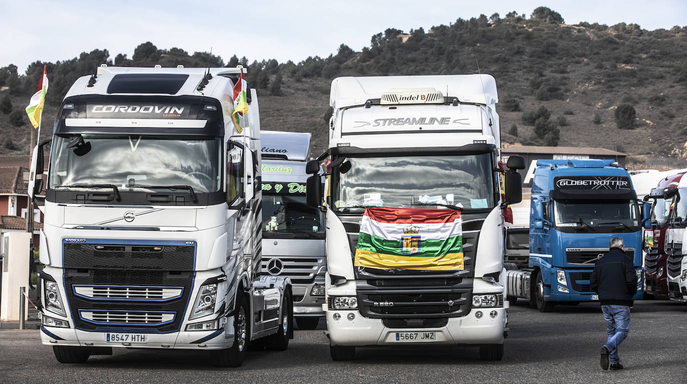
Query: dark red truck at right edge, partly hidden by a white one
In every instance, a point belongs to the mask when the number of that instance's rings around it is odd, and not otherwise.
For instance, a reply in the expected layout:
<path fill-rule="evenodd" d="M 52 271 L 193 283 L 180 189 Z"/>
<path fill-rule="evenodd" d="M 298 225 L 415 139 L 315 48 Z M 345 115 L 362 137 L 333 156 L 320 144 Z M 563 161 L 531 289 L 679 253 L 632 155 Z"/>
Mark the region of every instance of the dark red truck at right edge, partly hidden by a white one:
<path fill-rule="evenodd" d="M 646 296 L 657 299 L 668 298 L 668 270 L 666 261 L 666 231 L 669 226 L 673 200 L 684 172 L 666 176 L 658 182 L 644 200 L 651 202 L 651 228 L 644 230 L 644 269 Z M 666 200 L 666 192 L 671 195 Z"/>

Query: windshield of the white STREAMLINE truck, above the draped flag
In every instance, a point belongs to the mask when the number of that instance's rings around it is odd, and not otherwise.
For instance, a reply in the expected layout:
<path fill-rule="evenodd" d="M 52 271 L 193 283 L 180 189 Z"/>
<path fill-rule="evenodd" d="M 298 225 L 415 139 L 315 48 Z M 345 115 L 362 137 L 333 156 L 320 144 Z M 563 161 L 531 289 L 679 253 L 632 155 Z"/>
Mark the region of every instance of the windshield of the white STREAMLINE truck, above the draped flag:
<path fill-rule="evenodd" d="M 391 208 L 491 209 L 491 154 L 469 156 L 349 157 L 350 171 L 333 180 L 335 210 Z M 336 178 L 333 178 L 336 179 Z"/>

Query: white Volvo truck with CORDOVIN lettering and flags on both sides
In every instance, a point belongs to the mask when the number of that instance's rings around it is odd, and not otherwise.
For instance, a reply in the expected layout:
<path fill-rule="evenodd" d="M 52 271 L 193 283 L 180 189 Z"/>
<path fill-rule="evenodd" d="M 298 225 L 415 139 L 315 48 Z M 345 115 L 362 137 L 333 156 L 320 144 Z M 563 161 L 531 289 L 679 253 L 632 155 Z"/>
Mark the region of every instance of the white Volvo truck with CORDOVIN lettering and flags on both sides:
<path fill-rule="evenodd" d="M 229 115 L 239 71 L 103 65 L 71 86 L 40 207 L 41 339 L 58 361 L 183 348 L 238 366 L 250 341 L 287 348 L 291 283 L 260 276 L 255 90 L 243 129 Z"/>

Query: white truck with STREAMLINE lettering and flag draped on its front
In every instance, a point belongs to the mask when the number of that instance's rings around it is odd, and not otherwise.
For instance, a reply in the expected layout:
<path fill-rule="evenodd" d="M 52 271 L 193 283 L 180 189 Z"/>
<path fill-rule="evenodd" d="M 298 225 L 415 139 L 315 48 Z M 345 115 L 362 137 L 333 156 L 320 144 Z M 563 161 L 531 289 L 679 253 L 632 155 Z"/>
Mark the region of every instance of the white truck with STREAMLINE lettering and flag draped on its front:
<path fill-rule="evenodd" d="M 326 204 L 317 188 L 317 162 L 306 171 L 315 175 L 308 179 L 308 204 L 326 211 L 323 307 L 334 360 L 353 359 L 356 346 L 414 344 L 471 344 L 480 346 L 482 359 L 502 359 L 508 306 L 502 208 L 521 200 L 515 169 L 524 162 L 511 156 L 509 171 L 498 167 L 497 101 L 491 75 L 333 81 L 329 149 L 319 156 L 331 159 L 331 171 L 324 173 L 330 176 Z M 499 171 L 506 177 L 506 202 Z M 356 265 L 361 222 L 372 207 L 460 212 L 461 265 Z M 398 248 L 388 252 L 412 256 L 431 248 L 425 239 L 440 237 L 431 230 L 418 234 L 422 219 L 409 224 L 398 239 L 387 238 Z M 431 258 L 433 251 L 424 252 Z"/>

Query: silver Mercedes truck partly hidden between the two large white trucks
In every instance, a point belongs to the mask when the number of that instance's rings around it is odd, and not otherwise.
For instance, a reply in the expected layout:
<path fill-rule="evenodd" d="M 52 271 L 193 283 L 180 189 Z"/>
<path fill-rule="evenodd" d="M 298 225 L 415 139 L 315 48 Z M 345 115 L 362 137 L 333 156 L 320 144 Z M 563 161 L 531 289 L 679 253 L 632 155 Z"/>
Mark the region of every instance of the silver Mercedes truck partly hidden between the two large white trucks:
<path fill-rule="evenodd" d="M 293 285 L 298 328 L 324 316 L 324 215 L 306 205 L 310 134 L 262 131 L 262 274 Z"/>

